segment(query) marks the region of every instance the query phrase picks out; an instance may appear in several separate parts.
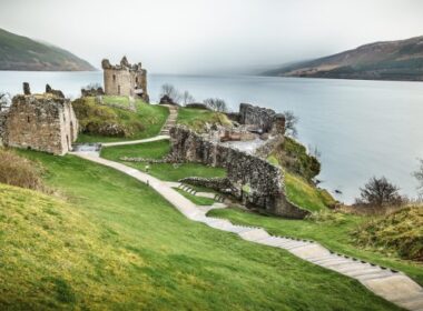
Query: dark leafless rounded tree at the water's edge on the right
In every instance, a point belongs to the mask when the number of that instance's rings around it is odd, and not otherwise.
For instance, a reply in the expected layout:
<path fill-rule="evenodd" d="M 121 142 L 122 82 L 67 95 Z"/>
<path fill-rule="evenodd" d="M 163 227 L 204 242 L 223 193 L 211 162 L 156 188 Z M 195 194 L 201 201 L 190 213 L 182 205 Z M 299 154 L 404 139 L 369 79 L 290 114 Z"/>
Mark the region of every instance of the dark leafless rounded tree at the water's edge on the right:
<path fill-rule="evenodd" d="M 357 204 L 372 207 L 399 205 L 404 202 L 400 195 L 400 188 L 392 184 L 385 177 L 372 177 L 364 188 L 360 188 L 361 197 L 356 199 Z"/>

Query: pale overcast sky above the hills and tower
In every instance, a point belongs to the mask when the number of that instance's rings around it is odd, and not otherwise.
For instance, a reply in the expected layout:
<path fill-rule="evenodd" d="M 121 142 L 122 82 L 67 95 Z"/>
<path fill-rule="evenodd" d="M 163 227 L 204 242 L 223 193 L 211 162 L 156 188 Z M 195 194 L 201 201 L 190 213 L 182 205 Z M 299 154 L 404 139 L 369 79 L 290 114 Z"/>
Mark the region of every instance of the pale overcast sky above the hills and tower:
<path fill-rule="evenodd" d="M 311 59 L 423 36 L 422 0 L 0 0 L 0 28 L 97 68 L 126 54 L 194 73 Z"/>

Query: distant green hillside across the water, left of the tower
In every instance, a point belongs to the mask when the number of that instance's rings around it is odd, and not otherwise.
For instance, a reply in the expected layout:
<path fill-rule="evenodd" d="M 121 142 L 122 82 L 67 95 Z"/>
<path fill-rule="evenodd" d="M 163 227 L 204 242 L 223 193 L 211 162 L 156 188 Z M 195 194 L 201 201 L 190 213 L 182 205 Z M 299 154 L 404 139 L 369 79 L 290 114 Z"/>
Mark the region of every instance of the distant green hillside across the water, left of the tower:
<path fill-rule="evenodd" d="M 95 68 L 66 50 L 0 29 L 0 70 L 85 71 Z"/>

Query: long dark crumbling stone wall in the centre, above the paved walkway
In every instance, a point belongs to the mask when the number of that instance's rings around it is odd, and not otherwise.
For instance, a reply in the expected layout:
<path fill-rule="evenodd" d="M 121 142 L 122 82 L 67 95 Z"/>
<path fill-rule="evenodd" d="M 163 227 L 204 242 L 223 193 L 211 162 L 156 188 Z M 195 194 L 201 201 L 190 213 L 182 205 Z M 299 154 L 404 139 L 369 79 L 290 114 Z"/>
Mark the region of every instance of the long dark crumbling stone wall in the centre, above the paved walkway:
<path fill-rule="evenodd" d="M 175 127 L 169 133 L 175 161 L 225 168 L 227 179 L 236 189 L 233 194 L 247 207 L 292 218 L 304 218 L 308 213 L 286 200 L 283 173 L 266 160 L 212 142 L 184 127 Z"/>

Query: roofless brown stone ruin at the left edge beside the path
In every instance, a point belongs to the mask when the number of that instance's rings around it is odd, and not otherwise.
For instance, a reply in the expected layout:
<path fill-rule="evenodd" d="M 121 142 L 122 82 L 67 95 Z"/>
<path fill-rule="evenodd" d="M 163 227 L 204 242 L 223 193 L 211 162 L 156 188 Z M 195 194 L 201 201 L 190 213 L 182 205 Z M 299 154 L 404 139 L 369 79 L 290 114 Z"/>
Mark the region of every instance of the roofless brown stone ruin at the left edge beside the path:
<path fill-rule="evenodd" d="M 78 120 L 69 100 L 53 96 L 16 96 L 4 122 L 6 146 L 53 154 L 71 150 Z"/>

